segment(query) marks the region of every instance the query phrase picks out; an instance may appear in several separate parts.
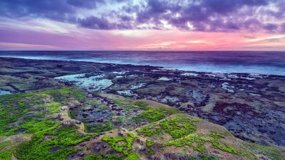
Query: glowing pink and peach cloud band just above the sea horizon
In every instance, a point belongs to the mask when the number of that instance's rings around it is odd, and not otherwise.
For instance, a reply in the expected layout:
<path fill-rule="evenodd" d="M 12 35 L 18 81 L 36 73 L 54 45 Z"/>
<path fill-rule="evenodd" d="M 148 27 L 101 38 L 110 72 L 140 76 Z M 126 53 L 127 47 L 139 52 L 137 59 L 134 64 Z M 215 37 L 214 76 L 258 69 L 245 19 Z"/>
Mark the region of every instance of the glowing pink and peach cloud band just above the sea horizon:
<path fill-rule="evenodd" d="M 285 50 L 285 35 L 269 33 L 0 28 L 0 34 L 1 50 Z"/>

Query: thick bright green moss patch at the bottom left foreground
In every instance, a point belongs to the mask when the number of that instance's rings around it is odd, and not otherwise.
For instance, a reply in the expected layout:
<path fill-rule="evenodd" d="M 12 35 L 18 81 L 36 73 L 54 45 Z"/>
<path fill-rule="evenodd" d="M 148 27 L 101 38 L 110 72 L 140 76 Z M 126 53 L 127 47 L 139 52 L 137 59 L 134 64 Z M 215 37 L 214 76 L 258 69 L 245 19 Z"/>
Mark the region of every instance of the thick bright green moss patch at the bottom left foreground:
<path fill-rule="evenodd" d="M 17 159 L 66 159 L 76 150 L 70 146 L 84 142 L 88 136 L 76 133 L 77 127 L 58 127 L 34 134 L 31 142 L 21 144 L 16 150 Z M 45 139 L 51 136 L 51 139 Z M 52 151 L 54 149 L 54 151 Z"/>

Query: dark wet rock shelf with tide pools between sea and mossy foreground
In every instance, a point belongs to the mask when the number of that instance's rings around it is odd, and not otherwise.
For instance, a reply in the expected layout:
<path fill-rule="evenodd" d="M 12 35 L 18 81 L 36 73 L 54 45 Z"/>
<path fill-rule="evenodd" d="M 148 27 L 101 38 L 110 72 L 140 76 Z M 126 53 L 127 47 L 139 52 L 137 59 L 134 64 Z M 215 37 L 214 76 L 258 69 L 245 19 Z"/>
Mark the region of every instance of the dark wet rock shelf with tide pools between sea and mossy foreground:
<path fill-rule="evenodd" d="M 73 76 L 76 80 L 82 78 L 88 82 L 62 78 L 65 75 L 76 75 Z M 10 92 L 76 85 L 89 92 L 113 93 L 133 100 L 155 100 L 221 124 L 241 139 L 285 146 L 285 77 L 282 76 L 0 58 L 0 79 L 0 89 Z M 105 84 L 108 86 L 104 87 Z M 104 102 L 107 110 L 98 110 L 98 106 L 92 104 L 83 107 L 80 102 L 73 102 L 69 107 L 73 116 L 95 124 L 104 122 L 110 113 L 115 112 L 118 117 L 127 113 L 113 102 L 101 97 L 93 98 Z"/>

